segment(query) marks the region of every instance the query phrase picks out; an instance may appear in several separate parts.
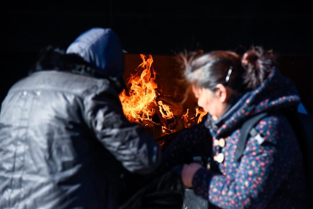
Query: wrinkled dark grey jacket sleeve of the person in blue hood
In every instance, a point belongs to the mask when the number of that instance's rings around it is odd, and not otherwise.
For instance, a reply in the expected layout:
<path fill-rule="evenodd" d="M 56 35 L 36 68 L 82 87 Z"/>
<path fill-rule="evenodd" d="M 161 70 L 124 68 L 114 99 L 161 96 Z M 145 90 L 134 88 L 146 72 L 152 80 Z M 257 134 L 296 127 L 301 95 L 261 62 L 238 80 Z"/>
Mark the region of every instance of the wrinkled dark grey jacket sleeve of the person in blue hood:
<path fill-rule="evenodd" d="M 160 146 L 139 125 L 126 119 L 118 93 L 107 86 L 95 87 L 84 97 L 85 122 L 128 171 L 139 174 L 154 171 L 161 160 Z"/>

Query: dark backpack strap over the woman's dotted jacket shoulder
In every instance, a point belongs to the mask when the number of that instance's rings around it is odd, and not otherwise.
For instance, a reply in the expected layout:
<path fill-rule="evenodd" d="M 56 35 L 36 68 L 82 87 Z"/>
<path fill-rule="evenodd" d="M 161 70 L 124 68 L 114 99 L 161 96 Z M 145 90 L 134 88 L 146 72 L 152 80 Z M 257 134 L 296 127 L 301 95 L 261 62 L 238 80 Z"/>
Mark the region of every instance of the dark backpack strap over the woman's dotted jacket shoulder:
<path fill-rule="evenodd" d="M 264 118 L 267 113 L 260 113 L 259 115 L 255 115 L 249 120 L 245 121 L 240 129 L 239 142 L 237 144 L 237 149 L 235 151 L 235 160 L 239 161 L 242 154 L 244 153 L 244 149 L 246 147 L 246 142 L 249 135 L 255 136 L 257 135 L 257 131 L 253 128 L 255 124 L 257 124 L 262 118 Z"/>

